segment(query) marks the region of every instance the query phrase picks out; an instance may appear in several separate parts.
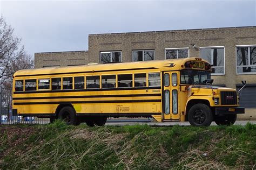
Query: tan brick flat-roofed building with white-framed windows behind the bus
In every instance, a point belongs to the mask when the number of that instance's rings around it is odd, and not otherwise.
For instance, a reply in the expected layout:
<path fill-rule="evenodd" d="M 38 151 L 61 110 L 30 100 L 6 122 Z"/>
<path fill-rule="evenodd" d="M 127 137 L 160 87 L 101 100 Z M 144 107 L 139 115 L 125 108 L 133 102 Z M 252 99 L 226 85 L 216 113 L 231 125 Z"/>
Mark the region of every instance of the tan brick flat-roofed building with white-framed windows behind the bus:
<path fill-rule="evenodd" d="M 256 26 L 90 34 L 88 51 L 35 53 L 36 68 L 197 56 L 213 64 L 214 84 L 241 87 L 241 105 L 256 118 Z"/>

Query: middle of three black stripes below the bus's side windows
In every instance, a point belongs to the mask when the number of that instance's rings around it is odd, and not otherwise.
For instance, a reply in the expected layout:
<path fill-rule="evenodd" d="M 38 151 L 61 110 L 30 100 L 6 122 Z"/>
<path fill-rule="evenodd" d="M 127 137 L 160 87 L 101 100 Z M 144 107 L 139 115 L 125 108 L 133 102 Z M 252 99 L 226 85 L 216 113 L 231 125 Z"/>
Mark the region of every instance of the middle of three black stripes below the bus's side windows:
<path fill-rule="evenodd" d="M 55 99 L 55 98 L 96 98 L 96 97 L 146 97 L 161 96 L 157 94 L 132 94 L 132 95 L 91 95 L 91 96 L 49 96 L 49 97 L 14 97 L 12 100 L 32 100 L 32 99 Z"/>

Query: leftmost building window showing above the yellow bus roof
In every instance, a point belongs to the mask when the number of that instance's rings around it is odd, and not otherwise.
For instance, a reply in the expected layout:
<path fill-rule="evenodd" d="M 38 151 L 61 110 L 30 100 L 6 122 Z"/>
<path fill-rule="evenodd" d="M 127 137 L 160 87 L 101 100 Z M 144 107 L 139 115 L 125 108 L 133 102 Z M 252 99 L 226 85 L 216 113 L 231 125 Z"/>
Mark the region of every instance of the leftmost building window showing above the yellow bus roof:
<path fill-rule="evenodd" d="M 100 63 L 121 62 L 121 61 L 122 61 L 121 51 L 100 52 Z"/>

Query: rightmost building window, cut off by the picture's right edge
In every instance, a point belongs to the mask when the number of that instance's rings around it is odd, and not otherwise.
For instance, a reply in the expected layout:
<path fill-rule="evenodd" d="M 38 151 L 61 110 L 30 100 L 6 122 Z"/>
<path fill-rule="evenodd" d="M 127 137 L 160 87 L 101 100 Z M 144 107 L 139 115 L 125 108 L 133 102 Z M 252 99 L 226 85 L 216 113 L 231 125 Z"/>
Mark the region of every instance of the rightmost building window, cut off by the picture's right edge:
<path fill-rule="evenodd" d="M 256 45 L 237 46 L 237 73 L 256 73 Z"/>

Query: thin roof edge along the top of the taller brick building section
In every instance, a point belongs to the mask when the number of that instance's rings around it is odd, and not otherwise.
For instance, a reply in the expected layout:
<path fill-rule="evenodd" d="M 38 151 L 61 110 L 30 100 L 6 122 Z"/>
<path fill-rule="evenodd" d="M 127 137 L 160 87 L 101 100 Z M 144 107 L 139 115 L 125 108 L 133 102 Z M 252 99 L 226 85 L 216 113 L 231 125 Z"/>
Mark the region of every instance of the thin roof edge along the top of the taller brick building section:
<path fill-rule="evenodd" d="M 164 31 L 99 33 L 99 34 L 89 34 L 89 36 L 115 35 L 115 34 L 139 34 L 139 33 L 177 32 L 177 31 L 203 31 L 203 30 L 223 30 L 223 29 L 244 29 L 244 28 L 252 28 L 252 27 L 256 27 L 256 26 L 235 26 L 235 27 L 217 27 L 217 28 L 207 28 L 207 29 L 187 29 L 187 30 L 164 30 Z"/>

